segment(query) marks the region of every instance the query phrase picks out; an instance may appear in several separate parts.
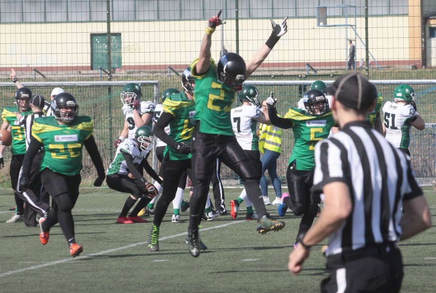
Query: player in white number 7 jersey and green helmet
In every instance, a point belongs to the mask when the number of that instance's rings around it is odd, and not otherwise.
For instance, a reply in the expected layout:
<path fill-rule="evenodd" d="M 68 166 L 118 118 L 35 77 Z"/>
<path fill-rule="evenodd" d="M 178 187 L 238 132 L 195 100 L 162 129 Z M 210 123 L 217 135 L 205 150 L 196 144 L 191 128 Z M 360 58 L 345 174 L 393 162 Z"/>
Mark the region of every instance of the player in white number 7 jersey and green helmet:
<path fill-rule="evenodd" d="M 256 135 L 257 122 L 271 124 L 268 117 L 260 110 L 259 91 L 254 86 L 244 86 L 237 93 L 241 107 L 234 108 L 230 111 L 233 132 L 236 140 L 241 145 L 252 168 L 256 171 L 256 180 L 260 184 L 262 176 L 262 163 L 260 162 L 259 141 Z M 239 204 L 245 200 L 247 207 L 246 220 L 257 220 L 258 216 L 253 212 L 251 201 L 247 198 L 245 189 L 241 192 L 238 199 L 230 201 L 230 216 L 236 220 Z M 265 201 L 264 201 L 265 202 Z"/>

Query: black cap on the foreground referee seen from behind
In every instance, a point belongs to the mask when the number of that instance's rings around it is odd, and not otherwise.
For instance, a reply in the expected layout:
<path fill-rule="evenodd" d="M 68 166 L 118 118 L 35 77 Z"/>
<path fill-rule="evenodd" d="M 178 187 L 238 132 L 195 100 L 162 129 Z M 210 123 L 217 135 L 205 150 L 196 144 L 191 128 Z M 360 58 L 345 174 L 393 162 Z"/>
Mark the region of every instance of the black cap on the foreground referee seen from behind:
<path fill-rule="evenodd" d="M 367 110 L 377 99 L 372 83 L 357 72 L 339 76 L 326 91 L 345 107 L 355 110 Z"/>

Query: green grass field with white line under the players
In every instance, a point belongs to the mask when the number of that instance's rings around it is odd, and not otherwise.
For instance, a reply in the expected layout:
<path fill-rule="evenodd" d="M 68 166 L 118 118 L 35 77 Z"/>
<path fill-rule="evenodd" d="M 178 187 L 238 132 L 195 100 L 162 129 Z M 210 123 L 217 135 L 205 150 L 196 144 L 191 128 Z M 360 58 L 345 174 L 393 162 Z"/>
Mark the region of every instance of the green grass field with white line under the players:
<path fill-rule="evenodd" d="M 436 286 L 436 194 L 424 187 L 433 227 L 401 242 L 405 277 L 403 292 L 434 292 Z M 241 189 L 226 189 L 226 206 Z M 188 198 L 187 193 L 185 199 Z M 270 198 L 274 199 L 270 191 Z M 39 243 L 39 227 L 23 222 L 6 224 L 15 205 L 11 190 L 0 190 L 0 291 L 2 292 L 318 292 L 328 276 L 322 244 L 312 248 L 303 271 L 294 277 L 288 257 L 299 218 L 287 213 L 286 227 L 266 235 L 256 222 L 230 214 L 202 222 L 201 238 L 208 246 L 200 257 L 189 255 L 185 244 L 189 214 L 171 223 L 172 205 L 161 225 L 160 251 L 147 248 L 151 223 L 116 224 L 125 194 L 108 189 L 82 190 L 73 210 L 77 242 L 84 252 L 73 259 L 59 226 L 50 241 Z M 268 206 L 277 215 L 276 206 Z M 151 222 L 152 219 L 149 219 Z"/>

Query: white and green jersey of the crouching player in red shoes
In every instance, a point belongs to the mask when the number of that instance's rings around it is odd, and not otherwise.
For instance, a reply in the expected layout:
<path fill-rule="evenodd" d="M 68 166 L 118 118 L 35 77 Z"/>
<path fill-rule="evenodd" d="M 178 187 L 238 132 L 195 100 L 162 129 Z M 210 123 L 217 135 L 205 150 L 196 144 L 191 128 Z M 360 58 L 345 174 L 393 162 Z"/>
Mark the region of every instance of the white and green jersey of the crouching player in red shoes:
<path fill-rule="evenodd" d="M 147 156 L 148 152 L 140 150 L 133 138 L 127 138 L 118 146 L 117 152 L 115 153 L 115 158 L 109 165 L 109 168 L 107 168 L 106 174 L 128 175 L 130 171 L 127 168 L 127 163 L 124 160 L 123 153 L 132 156 L 134 164 L 140 164 L 142 160 Z"/>

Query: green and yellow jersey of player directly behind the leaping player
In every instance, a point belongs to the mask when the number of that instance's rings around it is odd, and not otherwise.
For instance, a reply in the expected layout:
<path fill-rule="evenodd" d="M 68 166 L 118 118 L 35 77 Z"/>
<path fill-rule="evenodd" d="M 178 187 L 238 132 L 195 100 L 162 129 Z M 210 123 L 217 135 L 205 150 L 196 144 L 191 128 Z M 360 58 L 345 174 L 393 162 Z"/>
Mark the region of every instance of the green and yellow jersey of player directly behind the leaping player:
<path fill-rule="evenodd" d="M 195 102 L 188 99 L 186 94 L 172 94 L 163 103 L 163 111 L 171 114 L 174 118 L 169 122 L 169 137 L 177 142 L 191 142 L 194 125 L 189 121 L 195 115 Z M 164 157 L 169 153 L 170 160 L 188 160 L 191 154 L 181 154 L 169 145 L 166 146 Z"/>

